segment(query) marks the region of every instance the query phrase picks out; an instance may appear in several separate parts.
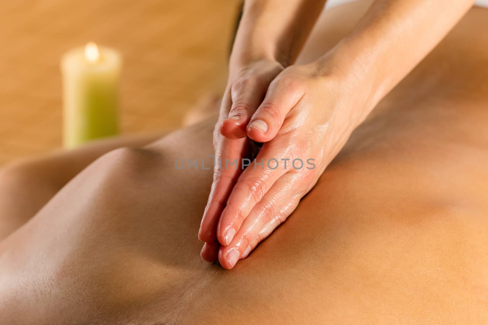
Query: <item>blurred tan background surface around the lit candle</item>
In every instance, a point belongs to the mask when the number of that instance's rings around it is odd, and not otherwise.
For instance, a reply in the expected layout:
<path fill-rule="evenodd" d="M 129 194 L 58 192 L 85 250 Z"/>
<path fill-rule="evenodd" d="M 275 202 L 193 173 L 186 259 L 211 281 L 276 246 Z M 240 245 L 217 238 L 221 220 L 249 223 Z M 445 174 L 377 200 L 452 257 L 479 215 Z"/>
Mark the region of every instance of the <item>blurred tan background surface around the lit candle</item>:
<path fill-rule="evenodd" d="M 62 53 L 88 41 L 124 59 L 123 133 L 178 127 L 225 86 L 239 0 L 0 4 L 0 164 L 61 147 Z"/>

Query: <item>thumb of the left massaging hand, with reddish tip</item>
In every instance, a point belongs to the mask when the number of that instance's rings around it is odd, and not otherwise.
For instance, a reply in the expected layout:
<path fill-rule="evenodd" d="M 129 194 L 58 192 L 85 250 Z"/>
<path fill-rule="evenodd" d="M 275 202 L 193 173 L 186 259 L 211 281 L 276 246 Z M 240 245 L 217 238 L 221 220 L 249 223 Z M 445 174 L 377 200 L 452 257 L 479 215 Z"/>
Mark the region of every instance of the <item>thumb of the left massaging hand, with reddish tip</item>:
<path fill-rule="evenodd" d="M 229 139 L 247 136 L 247 123 L 263 100 L 266 89 L 267 85 L 258 79 L 246 78 L 233 83 L 232 106 L 228 117 L 220 125 L 222 135 Z"/>

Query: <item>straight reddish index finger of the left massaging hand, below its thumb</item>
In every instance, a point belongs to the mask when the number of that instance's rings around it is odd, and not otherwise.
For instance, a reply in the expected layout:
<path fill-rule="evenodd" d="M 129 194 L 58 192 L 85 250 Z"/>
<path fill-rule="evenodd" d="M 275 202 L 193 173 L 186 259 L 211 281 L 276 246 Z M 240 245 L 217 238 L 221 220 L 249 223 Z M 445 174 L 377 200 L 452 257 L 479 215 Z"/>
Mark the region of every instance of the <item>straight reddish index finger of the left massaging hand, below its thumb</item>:
<path fill-rule="evenodd" d="M 198 232 L 198 238 L 203 242 L 215 240 L 219 217 L 242 172 L 242 157 L 246 157 L 249 150 L 247 138 L 230 140 L 222 137 L 217 146 L 212 187 Z M 235 164 L 227 164 L 227 161 L 235 161 Z"/>

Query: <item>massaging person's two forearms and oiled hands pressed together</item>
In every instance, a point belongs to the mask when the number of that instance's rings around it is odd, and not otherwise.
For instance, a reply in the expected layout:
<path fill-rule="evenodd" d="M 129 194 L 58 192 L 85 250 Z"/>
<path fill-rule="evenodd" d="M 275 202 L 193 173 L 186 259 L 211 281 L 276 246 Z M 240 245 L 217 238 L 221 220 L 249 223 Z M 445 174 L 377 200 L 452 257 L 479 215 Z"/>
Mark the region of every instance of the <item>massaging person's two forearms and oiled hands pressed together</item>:
<path fill-rule="evenodd" d="M 313 159 L 316 168 L 261 169 L 253 163 L 244 171 L 215 169 L 199 237 L 213 242 L 203 248 L 203 258 L 218 249 L 224 268 L 234 267 L 253 242 L 286 220 L 352 131 L 474 1 L 369 1 L 364 16 L 333 48 L 291 65 L 324 2 L 244 2 L 215 154 L 223 161 L 248 158 L 248 136 L 265 142 L 258 162 Z"/>

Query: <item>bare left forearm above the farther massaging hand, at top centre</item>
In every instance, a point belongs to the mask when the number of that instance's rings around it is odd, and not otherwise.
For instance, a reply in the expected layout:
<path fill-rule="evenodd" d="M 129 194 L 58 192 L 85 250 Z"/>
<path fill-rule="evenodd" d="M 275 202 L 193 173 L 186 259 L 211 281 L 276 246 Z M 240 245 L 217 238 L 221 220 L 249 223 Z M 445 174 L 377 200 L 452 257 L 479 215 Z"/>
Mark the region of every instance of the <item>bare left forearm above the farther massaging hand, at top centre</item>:
<path fill-rule="evenodd" d="M 292 64 L 324 8 L 325 0 L 246 0 L 230 66 L 270 59 Z"/>

